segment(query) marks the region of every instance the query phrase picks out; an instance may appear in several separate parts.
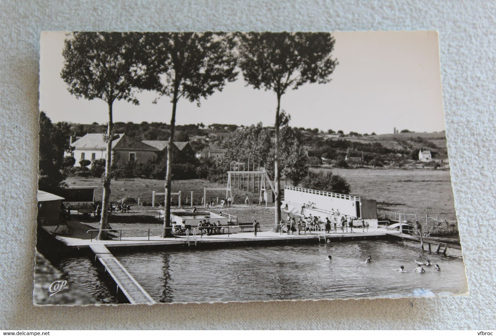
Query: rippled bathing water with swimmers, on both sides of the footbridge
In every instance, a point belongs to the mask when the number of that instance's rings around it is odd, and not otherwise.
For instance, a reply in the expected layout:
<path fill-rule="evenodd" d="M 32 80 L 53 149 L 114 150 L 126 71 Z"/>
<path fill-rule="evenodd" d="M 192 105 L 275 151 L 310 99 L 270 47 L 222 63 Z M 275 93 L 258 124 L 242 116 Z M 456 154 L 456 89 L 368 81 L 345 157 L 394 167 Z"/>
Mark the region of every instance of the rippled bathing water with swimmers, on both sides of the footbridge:
<path fill-rule="evenodd" d="M 369 254 L 372 262 L 365 263 Z M 460 257 L 423 252 L 401 241 L 114 255 L 157 302 L 404 297 L 468 291 Z M 84 259 L 65 259 L 59 267 L 97 299 L 113 302 L 115 298 L 105 294 L 90 262 Z M 430 259 L 439 264 L 441 272 L 425 267 L 426 273 L 413 273 L 414 259 Z M 400 265 L 407 273 L 393 271 Z"/>

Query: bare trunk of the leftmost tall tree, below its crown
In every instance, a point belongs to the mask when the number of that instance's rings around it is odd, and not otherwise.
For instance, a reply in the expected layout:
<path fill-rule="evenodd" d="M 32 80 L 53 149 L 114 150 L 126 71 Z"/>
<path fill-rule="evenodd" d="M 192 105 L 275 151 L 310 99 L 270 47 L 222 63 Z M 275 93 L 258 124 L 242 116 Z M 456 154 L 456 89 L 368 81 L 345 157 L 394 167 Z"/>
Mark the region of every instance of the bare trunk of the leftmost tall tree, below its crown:
<path fill-rule="evenodd" d="M 105 159 L 105 172 L 102 175 L 102 187 L 103 187 L 103 195 L 102 195 L 102 208 L 101 208 L 101 216 L 100 216 L 100 226 L 98 231 L 98 236 L 96 239 L 105 240 L 109 239 L 108 231 L 106 230 L 109 227 L 109 199 L 110 199 L 110 172 L 112 166 L 112 132 L 114 128 L 114 124 L 112 122 L 112 104 L 113 102 L 108 103 L 109 105 L 109 123 L 107 124 L 107 158 Z"/>

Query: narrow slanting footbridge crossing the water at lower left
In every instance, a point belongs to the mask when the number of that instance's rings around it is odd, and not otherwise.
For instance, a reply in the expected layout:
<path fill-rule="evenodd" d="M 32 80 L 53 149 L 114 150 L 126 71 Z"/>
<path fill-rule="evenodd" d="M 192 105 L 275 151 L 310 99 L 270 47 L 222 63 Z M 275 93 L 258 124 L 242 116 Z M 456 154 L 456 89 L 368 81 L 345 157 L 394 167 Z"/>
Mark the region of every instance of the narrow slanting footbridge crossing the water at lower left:
<path fill-rule="evenodd" d="M 105 245 L 90 245 L 90 249 L 95 253 L 95 261 L 99 260 L 105 267 L 105 271 L 111 276 L 117 285 L 117 292 L 121 290 L 131 304 L 152 304 L 155 301 L 141 287 L 119 260 L 105 247 Z"/>

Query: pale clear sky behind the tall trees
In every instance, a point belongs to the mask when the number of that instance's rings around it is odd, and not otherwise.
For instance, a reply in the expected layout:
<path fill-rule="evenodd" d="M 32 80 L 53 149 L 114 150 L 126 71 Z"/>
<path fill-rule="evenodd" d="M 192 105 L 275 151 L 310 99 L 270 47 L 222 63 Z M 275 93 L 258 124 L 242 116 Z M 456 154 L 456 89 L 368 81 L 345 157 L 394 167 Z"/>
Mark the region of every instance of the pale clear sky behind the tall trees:
<path fill-rule="evenodd" d="M 107 104 L 76 99 L 60 77 L 66 32 L 42 32 L 40 41 L 40 111 L 53 122 L 104 124 Z M 327 84 L 305 84 L 282 96 L 281 108 L 291 126 L 359 133 L 392 133 L 393 128 L 416 132 L 444 130 L 439 47 L 436 32 L 334 32 L 332 53 L 339 64 Z M 114 122 L 170 123 L 172 104 L 142 92 L 138 106 L 116 101 Z M 273 125 L 277 99 L 271 91 L 246 86 L 240 73 L 196 103 L 180 100 L 176 124 L 212 123 Z"/>

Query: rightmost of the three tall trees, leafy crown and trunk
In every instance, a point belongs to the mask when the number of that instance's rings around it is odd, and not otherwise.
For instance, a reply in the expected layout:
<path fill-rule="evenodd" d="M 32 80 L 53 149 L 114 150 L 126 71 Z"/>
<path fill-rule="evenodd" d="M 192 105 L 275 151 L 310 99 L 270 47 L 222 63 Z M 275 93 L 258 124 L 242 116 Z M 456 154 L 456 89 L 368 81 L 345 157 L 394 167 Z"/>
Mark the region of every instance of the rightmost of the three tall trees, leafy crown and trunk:
<path fill-rule="evenodd" d="M 281 97 L 289 89 L 305 83 L 327 83 L 338 64 L 331 53 L 334 38 L 330 33 L 240 33 L 239 66 L 245 81 L 255 89 L 276 94 L 275 227 L 281 220 L 281 177 L 279 167 L 279 126 Z"/>

